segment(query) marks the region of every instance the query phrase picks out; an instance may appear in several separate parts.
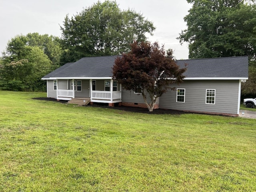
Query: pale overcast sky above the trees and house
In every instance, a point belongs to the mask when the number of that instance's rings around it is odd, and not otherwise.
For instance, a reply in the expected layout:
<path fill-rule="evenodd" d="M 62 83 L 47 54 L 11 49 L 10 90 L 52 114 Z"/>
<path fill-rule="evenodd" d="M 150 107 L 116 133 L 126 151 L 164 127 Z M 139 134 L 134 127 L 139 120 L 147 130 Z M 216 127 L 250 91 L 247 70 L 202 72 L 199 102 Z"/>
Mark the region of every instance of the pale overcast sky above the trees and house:
<path fill-rule="evenodd" d="M 18 34 L 38 32 L 61 36 L 66 14 L 70 16 L 81 12 L 97 0 L 0 0 L 0 52 L 8 40 Z M 104 2 L 104 0 L 100 0 Z M 119 8 L 128 8 L 140 12 L 154 23 L 156 30 L 149 40 L 164 44 L 165 49 L 172 48 L 176 59 L 188 58 L 188 45 L 180 45 L 176 39 L 186 29 L 183 18 L 188 14 L 191 4 L 186 0 L 116 0 Z"/>

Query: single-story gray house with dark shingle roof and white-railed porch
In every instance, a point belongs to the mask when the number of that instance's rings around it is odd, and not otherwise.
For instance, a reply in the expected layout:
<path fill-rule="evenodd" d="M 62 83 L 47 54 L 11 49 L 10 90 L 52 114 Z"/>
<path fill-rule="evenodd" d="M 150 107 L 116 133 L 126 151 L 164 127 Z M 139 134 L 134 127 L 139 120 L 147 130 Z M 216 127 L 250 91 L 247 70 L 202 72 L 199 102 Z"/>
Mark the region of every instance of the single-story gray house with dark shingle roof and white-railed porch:
<path fill-rule="evenodd" d="M 118 56 L 86 57 L 47 74 L 47 97 L 69 102 L 146 107 L 140 92 L 124 90 L 112 78 Z M 238 116 L 241 83 L 248 79 L 248 56 L 176 60 L 184 82 L 168 90 L 156 108 Z"/>

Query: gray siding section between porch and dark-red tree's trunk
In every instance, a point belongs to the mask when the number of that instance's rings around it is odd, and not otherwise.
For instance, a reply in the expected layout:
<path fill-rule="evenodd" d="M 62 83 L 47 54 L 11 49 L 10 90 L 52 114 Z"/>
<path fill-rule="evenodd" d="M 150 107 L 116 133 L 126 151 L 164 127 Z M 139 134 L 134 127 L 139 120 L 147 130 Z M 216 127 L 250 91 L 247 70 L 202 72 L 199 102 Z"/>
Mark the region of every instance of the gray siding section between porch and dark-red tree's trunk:
<path fill-rule="evenodd" d="M 144 103 L 144 99 L 142 94 L 135 94 L 134 91 L 124 90 L 122 89 L 122 102 L 128 103 Z M 147 97 L 147 102 L 150 103 L 150 97 Z M 156 101 L 158 104 L 159 100 Z"/>

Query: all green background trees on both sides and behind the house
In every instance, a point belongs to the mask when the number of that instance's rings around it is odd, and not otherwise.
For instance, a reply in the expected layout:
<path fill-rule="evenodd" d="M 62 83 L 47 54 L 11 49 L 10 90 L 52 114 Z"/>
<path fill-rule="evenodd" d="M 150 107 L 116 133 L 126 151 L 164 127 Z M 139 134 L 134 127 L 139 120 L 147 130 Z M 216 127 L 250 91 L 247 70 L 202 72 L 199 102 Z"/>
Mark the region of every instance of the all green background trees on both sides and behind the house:
<path fill-rule="evenodd" d="M 188 42 L 189 58 L 248 55 L 249 80 L 243 94 L 256 94 L 256 4 L 254 0 L 187 0 L 187 29 L 178 36 Z M 66 15 L 61 37 L 29 33 L 12 38 L 0 58 L 0 89 L 44 91 L 42 76 L 86 56 L 128 53 L 133 42 L 146 42 L 155 26 L 115 1 L 96 2 L 74 16 Z"/>

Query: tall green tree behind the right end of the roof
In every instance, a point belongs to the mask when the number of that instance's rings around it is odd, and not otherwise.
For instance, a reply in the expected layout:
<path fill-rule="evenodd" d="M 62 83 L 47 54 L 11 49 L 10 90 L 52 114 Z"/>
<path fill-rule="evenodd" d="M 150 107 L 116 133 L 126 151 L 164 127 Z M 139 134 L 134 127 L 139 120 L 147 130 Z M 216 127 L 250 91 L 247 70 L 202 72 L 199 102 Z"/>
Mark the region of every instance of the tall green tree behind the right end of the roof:
<path fill-rule="evenodd" d="M 256 5 L 244 0 L 187 0 L 188 28 L 180 42 L 189 43 L 189 58 L 256 54 Z M 250 1 L 254 2 L 254 1 Z"/>

